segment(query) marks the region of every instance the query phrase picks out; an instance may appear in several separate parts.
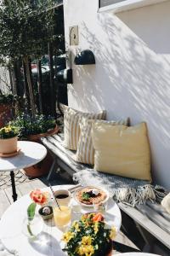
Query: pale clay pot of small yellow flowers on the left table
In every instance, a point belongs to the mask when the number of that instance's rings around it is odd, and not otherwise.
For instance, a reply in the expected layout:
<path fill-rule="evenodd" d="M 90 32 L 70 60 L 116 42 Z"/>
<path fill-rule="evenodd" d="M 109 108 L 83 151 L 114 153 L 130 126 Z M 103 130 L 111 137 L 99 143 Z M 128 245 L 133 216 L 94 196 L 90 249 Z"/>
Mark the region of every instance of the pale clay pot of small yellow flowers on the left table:
<path fill-rule="evenodd" d="M 17 136 L 19 131 L 16 127 L 8 125 L 0 129 L 0 154 L 13 154 L 17 152 Z"/>

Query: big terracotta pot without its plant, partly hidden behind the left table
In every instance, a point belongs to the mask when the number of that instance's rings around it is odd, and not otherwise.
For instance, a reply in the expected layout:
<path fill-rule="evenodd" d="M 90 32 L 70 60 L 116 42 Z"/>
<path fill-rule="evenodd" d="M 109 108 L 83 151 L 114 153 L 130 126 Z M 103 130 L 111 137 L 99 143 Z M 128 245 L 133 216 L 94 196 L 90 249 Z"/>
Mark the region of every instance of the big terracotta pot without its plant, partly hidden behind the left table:
<path fill-rule="evenodd" d="M 40 141 L 41 137 L 54 135 L 58 131 L 59 131 L 59 126 L 56 125 L 55 128 L 51 131 L 48 131 L 46 133 L 31 135 L 28 137 L 28 139 L 31 142 L 41 143 Z M 24 171 L 26 173 L 26 176 L 28 177 L 41 177 L 49 172 L 49 169 L 52 166 L 52 164 L 53 164 L 53 157 L 51 156 L 51 154 L 48 153 L 41 162 L 39 162 L 35 166 L 25 168 Z"/>

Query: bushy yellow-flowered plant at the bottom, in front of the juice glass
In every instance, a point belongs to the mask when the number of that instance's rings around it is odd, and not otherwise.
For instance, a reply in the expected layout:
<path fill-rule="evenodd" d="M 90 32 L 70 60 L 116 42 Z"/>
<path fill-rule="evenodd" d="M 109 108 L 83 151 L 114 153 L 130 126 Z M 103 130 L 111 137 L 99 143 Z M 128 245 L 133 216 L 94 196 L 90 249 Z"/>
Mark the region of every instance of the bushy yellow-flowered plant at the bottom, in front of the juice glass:
<path fill-rule="evenodd" d="M 69 256 L 111 256 L 116 228 L 108 228 L 101 213 L 86 213 L 65 232 L 63 249 Z"/>

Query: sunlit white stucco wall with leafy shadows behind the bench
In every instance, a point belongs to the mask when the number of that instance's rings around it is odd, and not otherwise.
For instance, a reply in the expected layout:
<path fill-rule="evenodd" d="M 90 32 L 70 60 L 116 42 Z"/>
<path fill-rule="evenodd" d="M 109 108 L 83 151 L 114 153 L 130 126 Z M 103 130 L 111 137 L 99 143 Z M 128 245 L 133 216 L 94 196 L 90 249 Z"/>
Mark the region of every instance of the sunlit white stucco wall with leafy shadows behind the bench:
<path fill-rule="evenodd" d="M 69 105 L 106 109 L 108 119 L 147 122 L 156 183 L 170 189 L 170 1 L 117 15 L 98 13 L 98 0 L 65 0 L 65 39 L 72 59 L 92 49 L 93 66 L 73 65 Z M 69 26 L 79 45 L 69 46 Z"/>

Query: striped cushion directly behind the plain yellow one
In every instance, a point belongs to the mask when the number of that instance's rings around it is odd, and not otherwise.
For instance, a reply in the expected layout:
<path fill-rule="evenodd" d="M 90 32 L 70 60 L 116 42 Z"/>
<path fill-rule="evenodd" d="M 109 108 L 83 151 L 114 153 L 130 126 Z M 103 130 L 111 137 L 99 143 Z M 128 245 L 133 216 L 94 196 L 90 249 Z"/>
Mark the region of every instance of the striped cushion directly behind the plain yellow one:
<path fill-rule="evenodd" d="M 77 146 L 77 154 L 74 160 L 88 165 L 94 165 L 94 146 L 92 143 L 91 129 L 93 123 L 107 123 L 110 125 L 128 125 L 129 119 L 117 121 L 92 120 L 82 117 L 80 121 L 80 137 Z"/>

